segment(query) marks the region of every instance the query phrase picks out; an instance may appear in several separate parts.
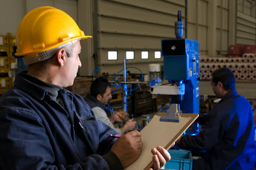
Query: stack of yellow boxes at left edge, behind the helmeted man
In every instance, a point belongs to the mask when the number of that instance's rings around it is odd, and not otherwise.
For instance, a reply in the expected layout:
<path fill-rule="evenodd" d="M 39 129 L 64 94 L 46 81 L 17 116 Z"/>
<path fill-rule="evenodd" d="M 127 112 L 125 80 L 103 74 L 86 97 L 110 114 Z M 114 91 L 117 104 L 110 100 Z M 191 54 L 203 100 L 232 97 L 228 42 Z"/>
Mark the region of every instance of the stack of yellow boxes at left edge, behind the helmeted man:
<path fill-rule="evenodd" d="M 0 95 L 12 87 L 11 63 L 15 63 L 12 46 L 16 45 L 15 36 L 11 33 L 0 35 Z"/>

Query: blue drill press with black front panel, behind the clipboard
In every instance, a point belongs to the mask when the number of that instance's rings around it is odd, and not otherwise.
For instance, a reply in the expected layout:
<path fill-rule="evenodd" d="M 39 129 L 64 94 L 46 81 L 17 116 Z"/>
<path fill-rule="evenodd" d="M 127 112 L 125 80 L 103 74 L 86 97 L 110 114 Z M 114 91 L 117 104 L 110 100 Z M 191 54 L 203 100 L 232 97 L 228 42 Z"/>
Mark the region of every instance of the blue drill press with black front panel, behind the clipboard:
<path fill-rule="evenodd" d="M 169 84 L 162 85 L 163 87 L 155 84 L 150 86 L 151 94 L 171 94 L 171 104 L 177 104 L 177 110 L 181 110 L 182 113 L 199 114 L 199 42 L 182 38 L 181 11 L 178 11 L 177 20 L 176 39 L 161 40 L 163 79 L 168 80 Z M 195 135 L 198 130 L 198 124 L 193 123 L 185 133 Z"/>

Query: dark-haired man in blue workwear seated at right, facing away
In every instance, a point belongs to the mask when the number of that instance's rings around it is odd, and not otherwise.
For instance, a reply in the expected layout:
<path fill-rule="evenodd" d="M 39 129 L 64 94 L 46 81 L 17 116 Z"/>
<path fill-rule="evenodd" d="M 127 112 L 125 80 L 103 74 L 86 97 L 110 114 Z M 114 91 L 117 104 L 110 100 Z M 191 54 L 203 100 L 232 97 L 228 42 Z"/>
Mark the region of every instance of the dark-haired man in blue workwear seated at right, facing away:
<path fill-rule="evenodd" d="M 204 128 L 198 135 L 184 135 L 176 144 L 207 150 L 193 161 L 193 170 L 254 170 L 256 144 L 250 103 L 237 94 L 234 75 L 228 68 L 212 72 L 210 84 L 221 100 L 199 117 Z"/>

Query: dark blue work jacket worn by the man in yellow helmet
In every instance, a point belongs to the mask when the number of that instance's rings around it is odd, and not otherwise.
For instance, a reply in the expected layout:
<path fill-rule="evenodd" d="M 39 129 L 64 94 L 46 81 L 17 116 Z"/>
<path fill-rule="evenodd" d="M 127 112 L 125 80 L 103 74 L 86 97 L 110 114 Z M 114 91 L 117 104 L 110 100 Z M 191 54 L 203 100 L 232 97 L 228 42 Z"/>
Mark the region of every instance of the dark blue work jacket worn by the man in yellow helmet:
<path fill-rule="evenodd" d="M 0 169 L 108 170 L 102 156 L 116 134 L 97 121 L 83 98 L 65 89 L 65 108 L 47 91 L 17 75 L 0 97 Z"/>

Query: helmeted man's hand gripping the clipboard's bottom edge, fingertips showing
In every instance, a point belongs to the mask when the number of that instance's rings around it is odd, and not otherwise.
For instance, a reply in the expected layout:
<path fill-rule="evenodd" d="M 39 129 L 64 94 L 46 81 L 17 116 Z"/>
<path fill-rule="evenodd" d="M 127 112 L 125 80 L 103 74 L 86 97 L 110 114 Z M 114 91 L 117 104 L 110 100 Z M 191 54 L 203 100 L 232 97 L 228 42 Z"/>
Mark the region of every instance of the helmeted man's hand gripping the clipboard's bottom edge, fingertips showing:
<path fill-rule="evenodd" d="M 173 147 L 174 145 L 175 143 L 173 143 L 171 147 Z M 148 170 L 159 170 L 162 166 L 166 164 L 166 162 L 170 160 L 170 154 L 168 153 L 168 151 L 160 146 L 156 147 L 156 149 L 151 149 L 151 153 L 153 154 L 153 167 Z"/>

